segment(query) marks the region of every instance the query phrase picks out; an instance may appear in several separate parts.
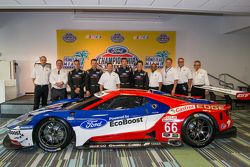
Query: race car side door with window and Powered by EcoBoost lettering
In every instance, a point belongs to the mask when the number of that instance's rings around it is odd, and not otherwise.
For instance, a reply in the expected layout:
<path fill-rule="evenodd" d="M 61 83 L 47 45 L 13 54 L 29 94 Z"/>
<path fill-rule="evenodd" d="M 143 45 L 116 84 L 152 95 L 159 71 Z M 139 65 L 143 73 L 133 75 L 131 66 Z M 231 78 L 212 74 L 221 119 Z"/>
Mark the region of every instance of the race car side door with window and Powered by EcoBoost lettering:
<path fill-rule="evenodd" d="M 92 115 L 93 117 L 105 117 L 108 122 L 105 128 L 106 134 L 135 132 L 145 130 L 147 122 L 145 105 L 145 97 L 119 95 L 94 107 L 90 112 L 96 113 Z"/>

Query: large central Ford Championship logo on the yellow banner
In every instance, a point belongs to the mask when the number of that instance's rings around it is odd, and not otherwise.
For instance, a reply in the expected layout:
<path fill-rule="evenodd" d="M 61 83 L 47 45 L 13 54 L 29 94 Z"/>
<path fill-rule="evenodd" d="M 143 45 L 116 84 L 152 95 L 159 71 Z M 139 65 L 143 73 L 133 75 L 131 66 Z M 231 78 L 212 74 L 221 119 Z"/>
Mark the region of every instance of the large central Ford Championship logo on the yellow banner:
<path fill-rule="evenodd" d="M 118 68 L 122 58 L 128 60 L 128 66 L 131 68 L 134 68 L 135 63 L 139 60 L 136 55 L 129 52 L 128 48 L 120 45 L 110 46 L 106 49 L 106 52 L 96 57 L 97 63 L 102 68 L 105 68 L 109 62 L 113 63 L 114 68 Z"/>

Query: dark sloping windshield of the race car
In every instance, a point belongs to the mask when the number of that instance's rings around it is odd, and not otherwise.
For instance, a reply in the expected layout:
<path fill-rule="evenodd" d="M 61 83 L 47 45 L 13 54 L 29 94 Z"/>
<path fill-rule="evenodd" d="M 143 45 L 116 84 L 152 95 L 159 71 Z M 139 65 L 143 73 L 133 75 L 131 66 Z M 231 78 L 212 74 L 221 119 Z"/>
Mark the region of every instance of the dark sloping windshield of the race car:
<path fill-rule="evenodd" d="M 83 109 L 83 108 L 85 108 L 93 103 L 96 103 L 99 100 L 101 100 L 101 99 L 96 97 L 96 96 L 93 96 L 93 97 L 85 99 L 83 101 L 74 103 L 74 104 L 66 107 L 65 109 L 66 110 L 81 110 L 81 109 Z"/>

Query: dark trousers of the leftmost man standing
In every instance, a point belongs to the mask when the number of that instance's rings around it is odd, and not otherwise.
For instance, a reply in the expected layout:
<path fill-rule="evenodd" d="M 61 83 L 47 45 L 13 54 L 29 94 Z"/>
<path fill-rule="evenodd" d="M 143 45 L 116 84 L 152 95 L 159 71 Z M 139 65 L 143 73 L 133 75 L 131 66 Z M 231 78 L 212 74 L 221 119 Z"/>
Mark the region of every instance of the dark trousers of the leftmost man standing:
<path fill-rule="evenodd" d="M 42 106 L 44 107 L 47 105 L 48 93 L 49 93 L 48 85 L 35 85 L 34 107 L 33 107 L 34 110 L 39 108 L 41 99 L 42 99 Z"/>

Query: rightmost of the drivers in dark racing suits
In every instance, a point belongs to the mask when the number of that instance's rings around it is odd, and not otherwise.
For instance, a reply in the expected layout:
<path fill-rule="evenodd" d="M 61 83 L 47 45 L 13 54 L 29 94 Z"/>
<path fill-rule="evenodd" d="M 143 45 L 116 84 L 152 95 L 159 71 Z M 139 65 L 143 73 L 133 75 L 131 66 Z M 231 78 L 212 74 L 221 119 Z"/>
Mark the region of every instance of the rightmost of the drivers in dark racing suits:
<path fill-rule="evenodd" d="M 148 89 L 149 79 L 148 73 L 143 71 L 143 61 L 137 62 L 137 70 L 134 71 L 134 88 L 136 89 Z"/>

